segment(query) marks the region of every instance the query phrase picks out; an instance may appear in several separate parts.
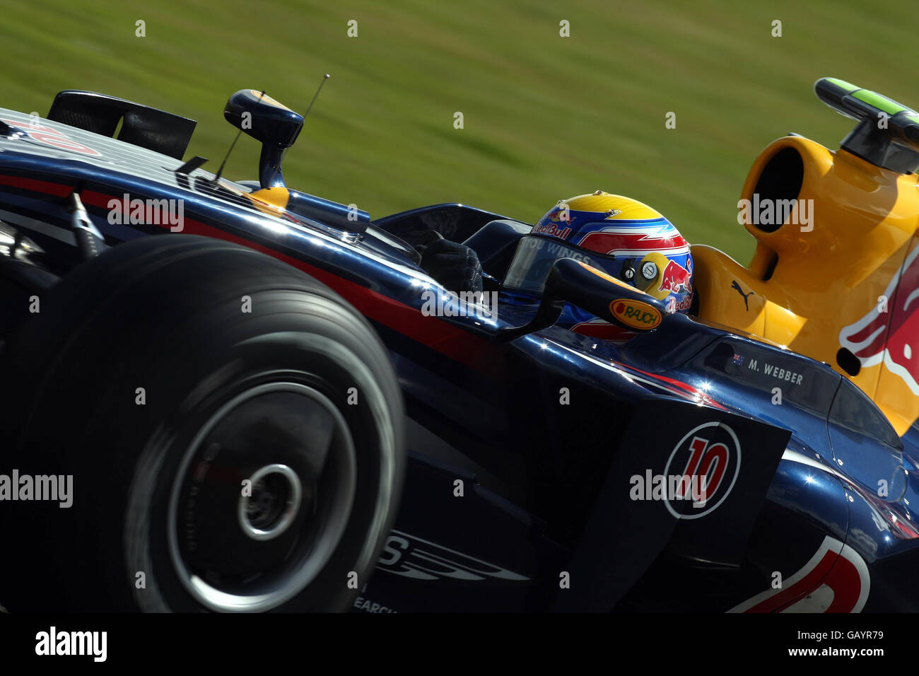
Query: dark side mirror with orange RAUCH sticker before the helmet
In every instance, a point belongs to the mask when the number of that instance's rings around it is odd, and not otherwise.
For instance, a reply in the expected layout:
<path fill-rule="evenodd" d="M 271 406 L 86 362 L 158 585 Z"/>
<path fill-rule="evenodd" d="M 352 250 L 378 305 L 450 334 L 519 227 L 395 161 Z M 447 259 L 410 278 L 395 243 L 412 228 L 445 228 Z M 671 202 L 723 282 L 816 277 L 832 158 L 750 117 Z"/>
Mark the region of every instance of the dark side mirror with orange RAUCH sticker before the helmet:
<path fill-rule="evenodd" d="M 667 315 L 664 304 L 647 293 L 573 258 L 560 258 L 552 264 L 533 319 L 523 327 L 505 328 L 500 335 L 517 338 L 551 327 L 566 303 L 638 333 L 655 330 Z"/>

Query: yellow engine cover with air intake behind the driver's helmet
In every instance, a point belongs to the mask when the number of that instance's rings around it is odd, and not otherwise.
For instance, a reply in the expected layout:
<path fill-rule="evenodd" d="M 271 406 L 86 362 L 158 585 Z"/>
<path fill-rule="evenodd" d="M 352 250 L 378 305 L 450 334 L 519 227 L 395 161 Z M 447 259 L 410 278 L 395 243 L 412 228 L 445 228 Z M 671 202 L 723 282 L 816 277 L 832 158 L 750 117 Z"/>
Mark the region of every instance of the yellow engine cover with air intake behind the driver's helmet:
<path fill-rule="evenodd" d="M 739 203 L 757 240 L 746 268 L 710 246 L 693 246 L 699 318 L 826 361 L 902 434 L 919 418 L 917 177 L 787 136 L 756 159 L 742 200 L 758 201 L 757 182 L 784 149 L 803 163 L 798 223 L 789 214 L 767 232 L 749 217 L 755 210 Z M 857 374 L 840 365 L 841 349 L 857 357 Z"/>

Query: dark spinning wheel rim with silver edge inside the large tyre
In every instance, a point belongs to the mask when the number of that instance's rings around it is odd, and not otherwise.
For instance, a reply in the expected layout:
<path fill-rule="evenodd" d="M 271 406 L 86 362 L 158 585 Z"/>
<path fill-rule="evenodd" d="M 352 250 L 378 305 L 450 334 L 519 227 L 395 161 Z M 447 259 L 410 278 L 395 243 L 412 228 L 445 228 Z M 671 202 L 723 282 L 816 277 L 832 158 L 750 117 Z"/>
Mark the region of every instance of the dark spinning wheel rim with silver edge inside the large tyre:
<path fill-rule="evenodd" d="M 219 612 L 288 602 L 341 541 L 356 462 L 345 418 L 318 390 L 285 381 L 233 396 L 197 431 L 173 482 L 169 553 L 182 585 Z"/>

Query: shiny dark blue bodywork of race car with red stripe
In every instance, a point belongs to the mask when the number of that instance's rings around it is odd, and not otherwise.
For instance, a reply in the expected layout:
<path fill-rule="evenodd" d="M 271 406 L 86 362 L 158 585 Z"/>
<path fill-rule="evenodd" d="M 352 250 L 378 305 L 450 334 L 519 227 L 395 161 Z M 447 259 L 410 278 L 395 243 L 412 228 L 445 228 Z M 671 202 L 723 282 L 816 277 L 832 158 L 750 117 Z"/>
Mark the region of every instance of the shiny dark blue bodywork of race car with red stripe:
<path fill-rule="evenodd" d="M 404 240 L 435 229 L 466 241 L 500 280 L 522 223 L 448 204 L 355 234 L 335 227 L 343 205 L 301 196 L 314 218 L 278 217 L 245 197 L 251 184 L 178 174 L 167 155 L 38 120 L 93 153 L 55 146 L 12 110 L 0 120 L 0 220 L 55 272 L 79 260 L 72 191 L 109 245 L 170 229 L 112 223 L 111 200 L 176 200 L 182 232 L 281 258 L 378 330 L 403 387 L 411 462 L 357 610 L 919 608 L 908 574 L 919 432 L 898 438 L 826 364 L 685 315 L 622 347 L 558 327 L 508 340 L 500 330 L 526 324 L 533 306 L 498 294 L 496 316 L 464 308 Z M 429 316 L 431 294 L 457 315 Z M 631 477 L 664 473 L 686 433 L 709 424 L 743 448 L 723 505 L 677 519 L 632 498 Z"/>

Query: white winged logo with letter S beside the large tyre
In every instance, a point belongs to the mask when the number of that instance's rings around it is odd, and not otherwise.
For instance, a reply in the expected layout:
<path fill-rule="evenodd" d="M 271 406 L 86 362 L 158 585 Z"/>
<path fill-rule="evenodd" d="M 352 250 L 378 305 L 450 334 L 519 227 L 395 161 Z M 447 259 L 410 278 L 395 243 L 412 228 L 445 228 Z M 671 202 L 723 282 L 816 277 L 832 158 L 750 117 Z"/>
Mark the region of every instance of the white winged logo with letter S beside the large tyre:
<path fill-rule="evenodd" d="M 482 559 L 461 554 L 401 531 L 390 533 L 383 546 L 380 561 L 377 562 L 377 570 L 403 578 L 428 581 L 454 579 L 464 582 L 525 582 L 529 579 L 506 568 L 494 566 Z"/>

